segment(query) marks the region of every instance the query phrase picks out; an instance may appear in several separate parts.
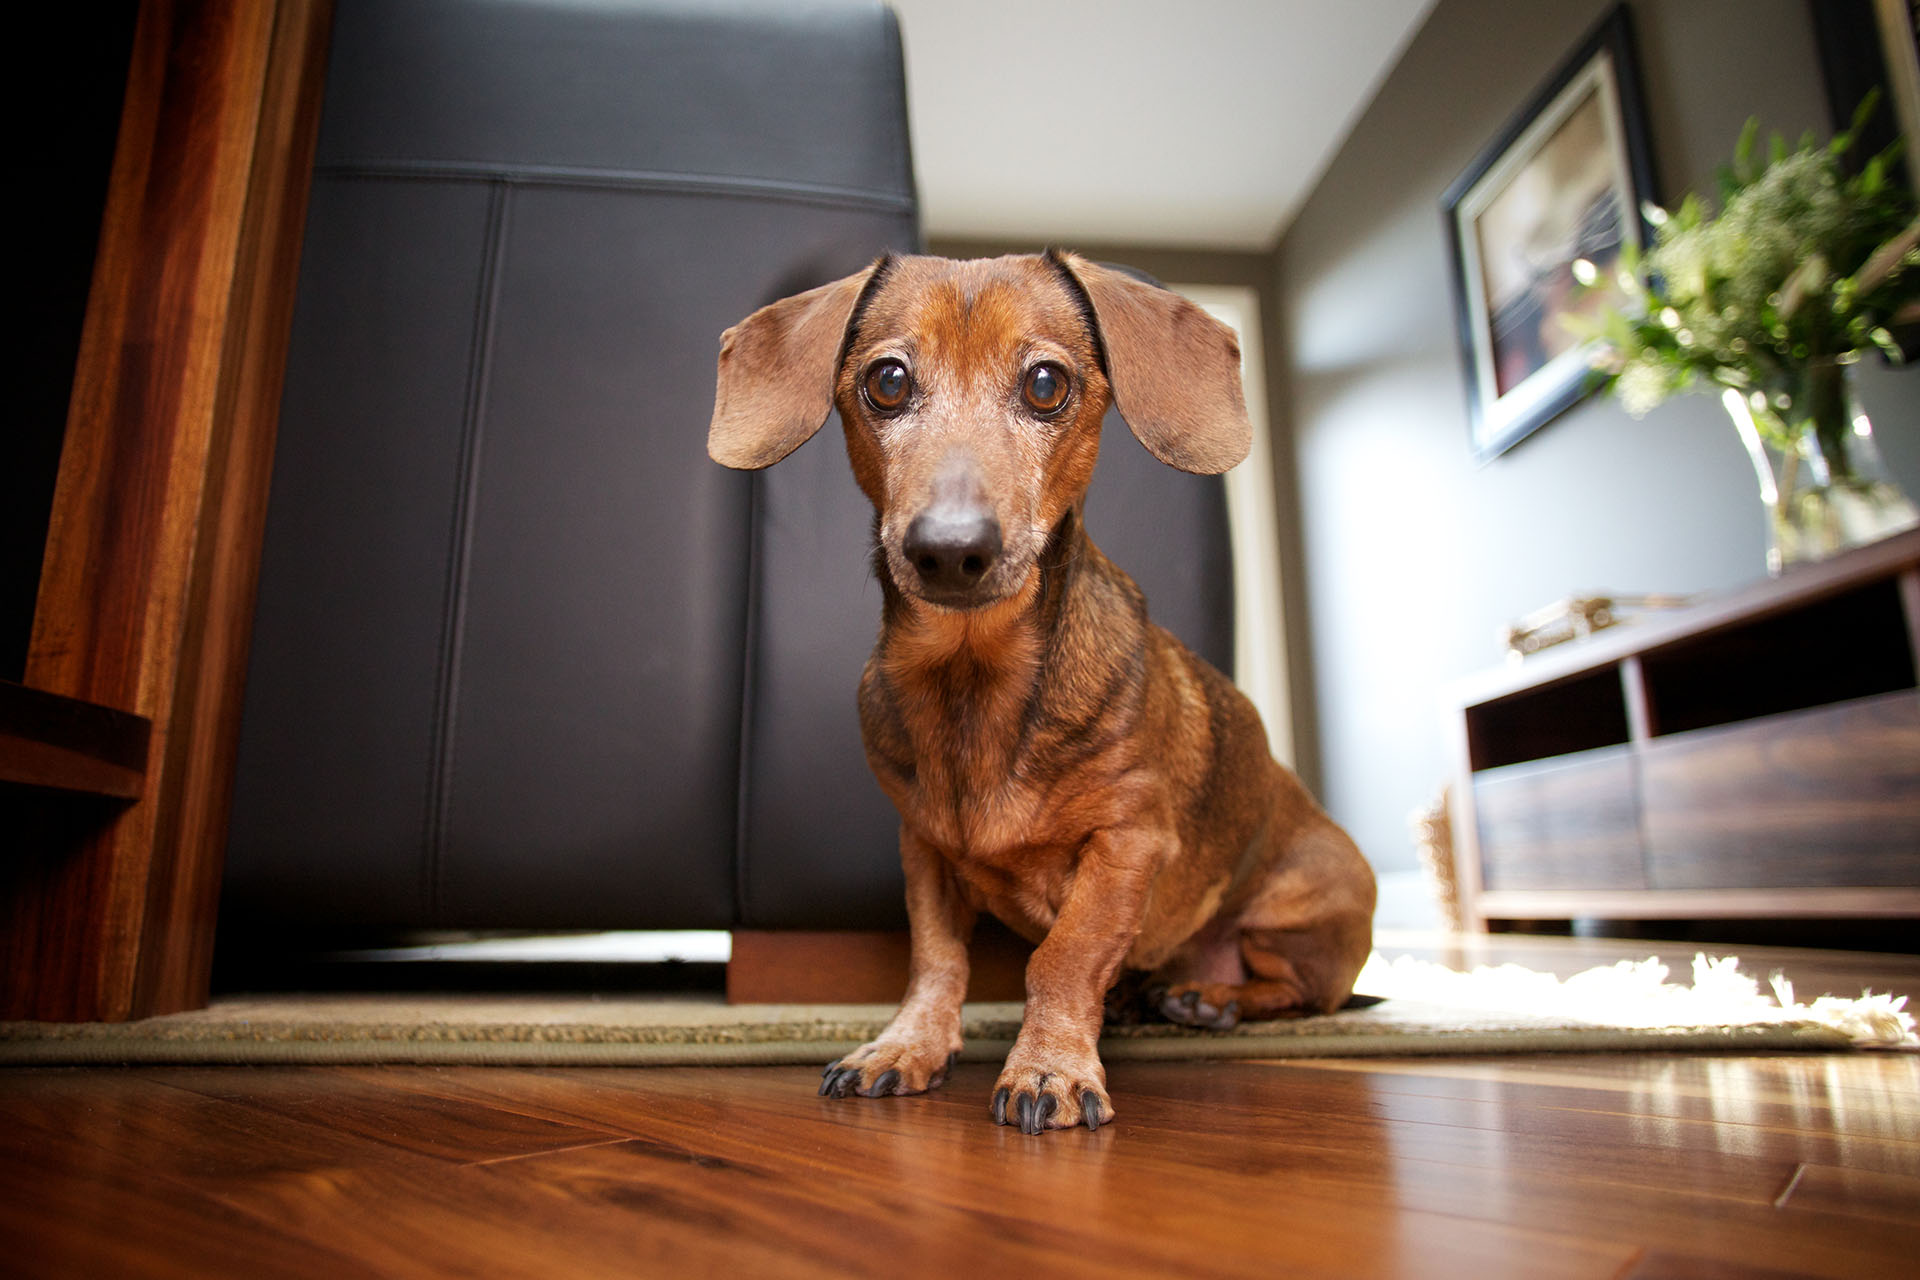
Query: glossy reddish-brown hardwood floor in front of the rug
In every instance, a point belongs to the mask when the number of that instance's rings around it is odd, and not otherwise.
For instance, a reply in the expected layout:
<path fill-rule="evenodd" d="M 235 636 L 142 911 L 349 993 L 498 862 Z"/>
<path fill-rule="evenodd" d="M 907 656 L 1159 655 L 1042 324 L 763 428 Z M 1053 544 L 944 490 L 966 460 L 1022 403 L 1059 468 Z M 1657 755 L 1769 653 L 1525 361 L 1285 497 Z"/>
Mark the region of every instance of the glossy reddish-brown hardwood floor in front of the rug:
<path fill-rule="evenodd" d="M 993 1075 L 0 1071 L 0 1274 L 1916 1274 L 1920 1055 L 1116 1063 L 1044 1138 Z"/>

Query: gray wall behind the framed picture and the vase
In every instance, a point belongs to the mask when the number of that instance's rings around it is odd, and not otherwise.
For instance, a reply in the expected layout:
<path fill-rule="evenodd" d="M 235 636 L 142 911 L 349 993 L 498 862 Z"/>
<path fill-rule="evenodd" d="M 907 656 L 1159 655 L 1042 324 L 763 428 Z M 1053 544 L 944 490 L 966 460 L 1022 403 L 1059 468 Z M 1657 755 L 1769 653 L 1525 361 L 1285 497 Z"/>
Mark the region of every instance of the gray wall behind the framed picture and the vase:
<path fill-rule="evenodd" d="M 1594 399 L 1486 466 L 1469 455 L 1440 196 L 1605 8 L 1440 0 L 1279 246 L 1309 770 L 1386 871 L 1415 865 L 1407 814 L 1452 768 L 1444 693 L 1501 660 L 1501 624 L 1580 591 L 1764 576 L 1753 470 L 1713 397 L 1640 422 Z M 1711 192 L 1747 115 L 1828 130 L 1803 0 L 1632 17 L 1659 196 Z M 1868 368 L 1862 399 L 1920 491 L 1920 374 Z"/>

